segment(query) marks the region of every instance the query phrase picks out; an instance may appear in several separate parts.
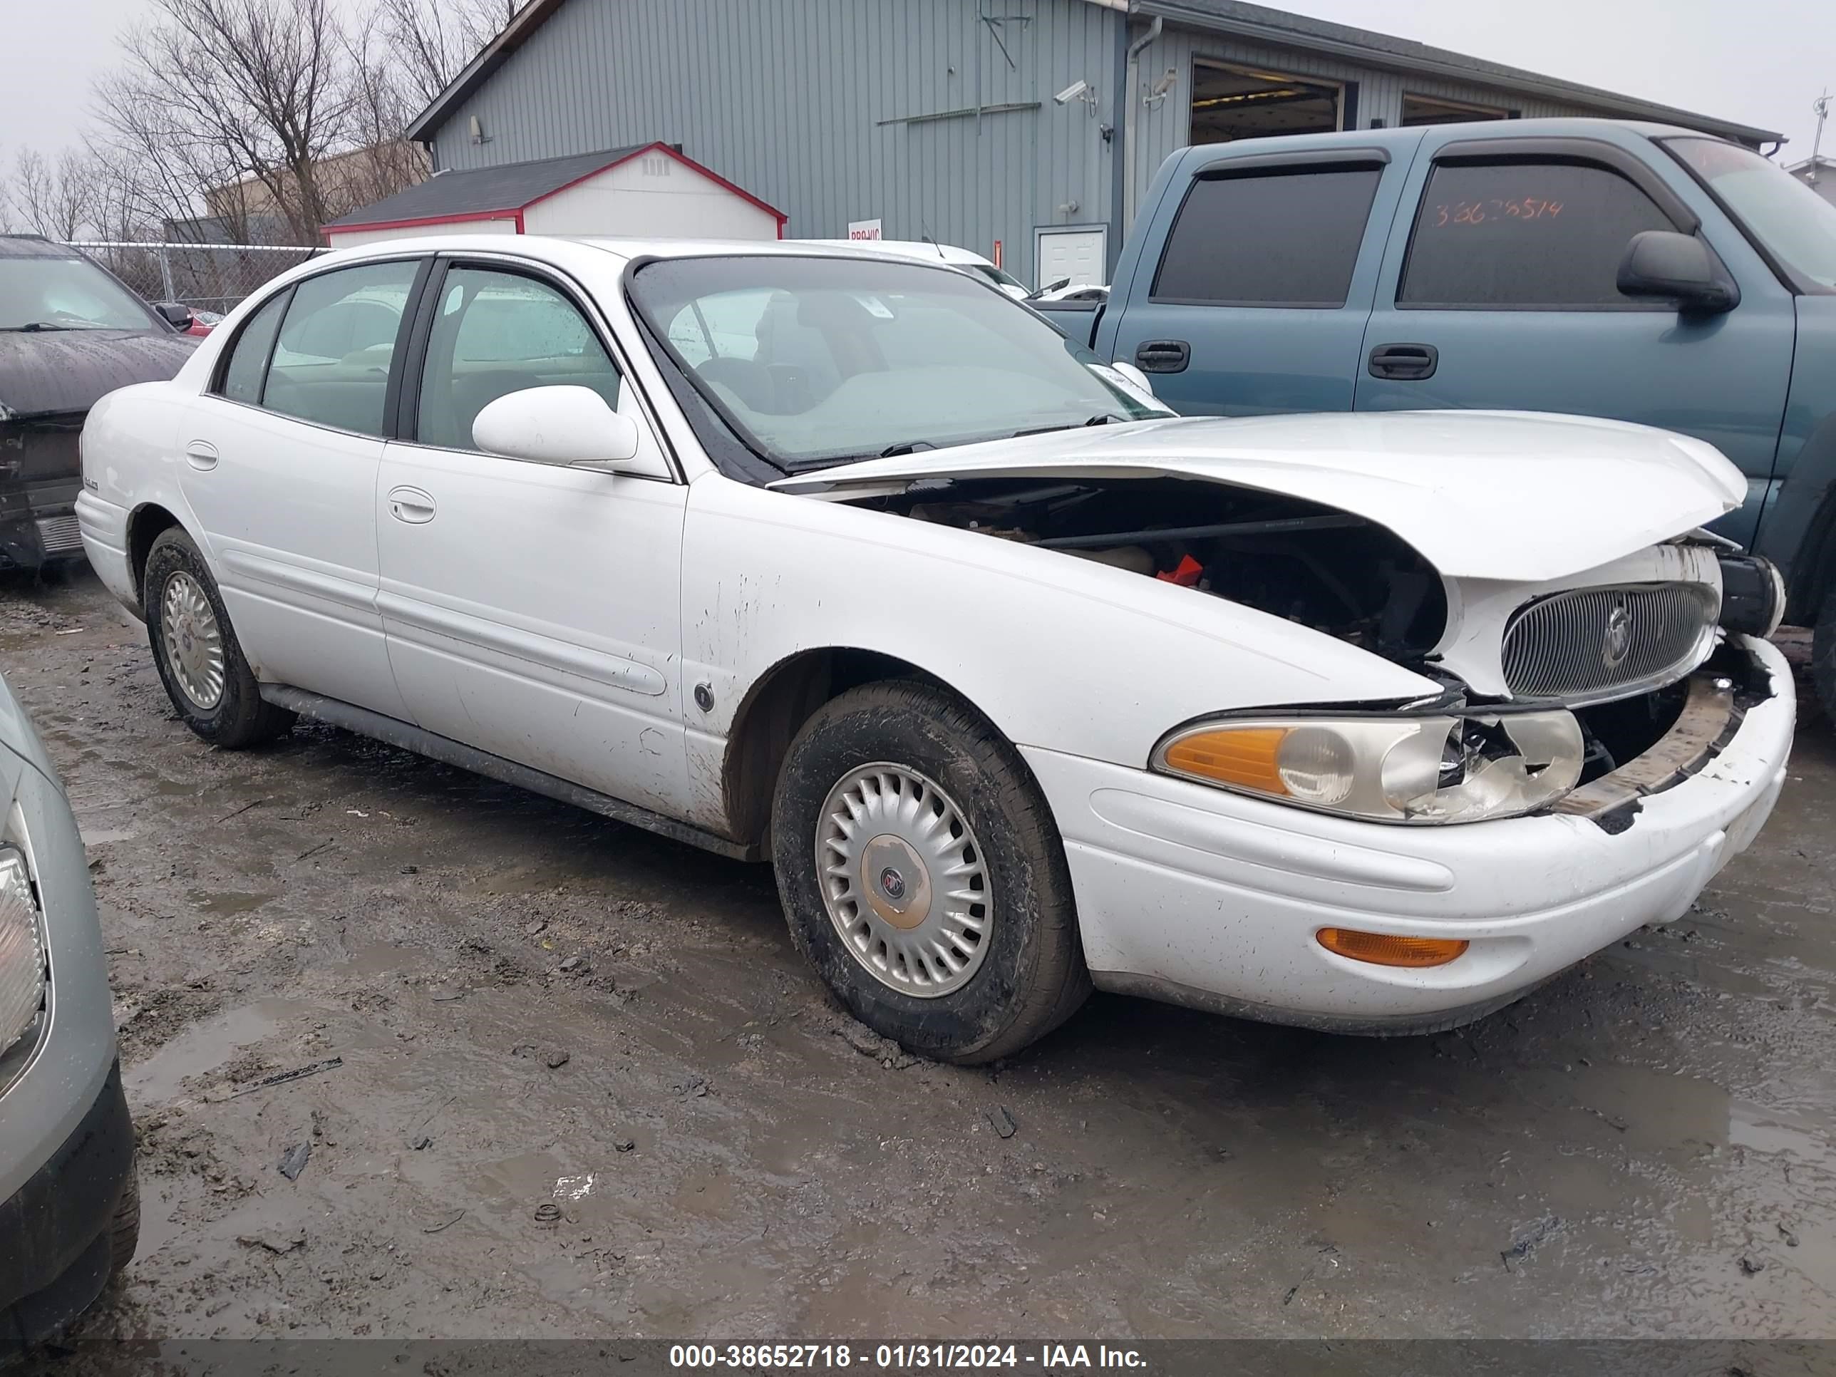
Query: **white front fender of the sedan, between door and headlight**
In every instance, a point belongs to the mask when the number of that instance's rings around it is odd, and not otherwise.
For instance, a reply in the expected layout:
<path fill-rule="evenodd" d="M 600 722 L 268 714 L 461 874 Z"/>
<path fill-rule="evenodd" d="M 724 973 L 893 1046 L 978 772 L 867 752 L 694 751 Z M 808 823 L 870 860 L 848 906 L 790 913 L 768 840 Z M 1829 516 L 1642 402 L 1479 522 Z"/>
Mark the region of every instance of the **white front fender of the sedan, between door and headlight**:
<path fill-rule="evenodd" d="M 784 659 L 890 655 L 969 700 L 1015 745 L 1144 767 L 1171 727 L 1280 703 L 1439 692 L 1304 626 L 1056 551 L 845 503 L 690 488 L 683 685 L 694 795 L 718 824 L 734 714 Z M 712 707 L 694 690 L 705 685 Z"/>

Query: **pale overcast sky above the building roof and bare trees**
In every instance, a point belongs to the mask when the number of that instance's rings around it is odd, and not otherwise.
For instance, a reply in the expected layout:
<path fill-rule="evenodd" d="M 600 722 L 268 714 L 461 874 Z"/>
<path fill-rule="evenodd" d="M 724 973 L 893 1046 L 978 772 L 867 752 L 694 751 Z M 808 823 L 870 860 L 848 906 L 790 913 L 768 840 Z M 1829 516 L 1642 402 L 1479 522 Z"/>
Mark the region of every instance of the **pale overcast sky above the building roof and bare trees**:
<path fill-rule="evenodd" d="M 6 7 L 0 160 L 11 163 L 20 145 L 53 151 L 81 138 L 90 83 L 147 0 L 7 0 Z M 1287 7 L 1775 129 L 1790 136 L 1785 162 L 1808 156 L 1810 101 L 1836 88 L 1836 0 L 1293 0 Z M 1832 145 L 1836 132 L 1825 136 L 1825 152 Z"/>

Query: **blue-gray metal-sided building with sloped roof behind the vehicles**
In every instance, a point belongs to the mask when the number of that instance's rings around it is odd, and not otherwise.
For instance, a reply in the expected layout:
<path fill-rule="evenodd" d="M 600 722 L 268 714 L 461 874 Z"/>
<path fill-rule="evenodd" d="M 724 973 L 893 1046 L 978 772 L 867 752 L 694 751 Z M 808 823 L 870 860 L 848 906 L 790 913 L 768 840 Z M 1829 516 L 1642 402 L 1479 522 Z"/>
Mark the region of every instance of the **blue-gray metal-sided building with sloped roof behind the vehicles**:
<path fill-rule="evenodd" d="M 529 0 L 409 138 L 452 171 L 665 141 L 788 237 L 878 222 L 1107 281 L 1186 143 L 1520 116 L 1779 140 L 1237 0 Z"/>

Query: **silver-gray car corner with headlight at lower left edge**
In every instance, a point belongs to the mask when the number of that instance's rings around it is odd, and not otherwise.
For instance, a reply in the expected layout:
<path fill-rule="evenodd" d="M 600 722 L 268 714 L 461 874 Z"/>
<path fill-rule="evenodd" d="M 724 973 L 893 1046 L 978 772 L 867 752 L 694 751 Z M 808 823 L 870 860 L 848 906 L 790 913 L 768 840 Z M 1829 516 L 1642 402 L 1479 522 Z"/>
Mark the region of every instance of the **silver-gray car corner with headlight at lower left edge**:
<path fill-rule="evenodd" d="M 75 1318 L 138 1237 L 134 1125 L 83 837 L 0 679 L 0 1360 Z"/>

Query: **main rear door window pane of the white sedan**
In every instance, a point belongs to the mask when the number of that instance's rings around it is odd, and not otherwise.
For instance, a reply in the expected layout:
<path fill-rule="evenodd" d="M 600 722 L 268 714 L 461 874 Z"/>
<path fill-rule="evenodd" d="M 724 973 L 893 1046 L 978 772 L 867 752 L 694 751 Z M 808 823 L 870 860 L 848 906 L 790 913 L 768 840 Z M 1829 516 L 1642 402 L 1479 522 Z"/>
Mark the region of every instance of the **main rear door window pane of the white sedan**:
<path fill-rule="evenodd" d="M 321 426 L 382 435 L 395 341 L 419 266 L 364 263 L 294 286 L 263 406 Z"/>

